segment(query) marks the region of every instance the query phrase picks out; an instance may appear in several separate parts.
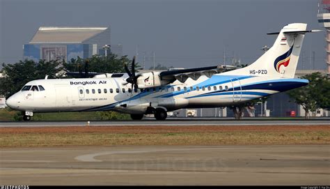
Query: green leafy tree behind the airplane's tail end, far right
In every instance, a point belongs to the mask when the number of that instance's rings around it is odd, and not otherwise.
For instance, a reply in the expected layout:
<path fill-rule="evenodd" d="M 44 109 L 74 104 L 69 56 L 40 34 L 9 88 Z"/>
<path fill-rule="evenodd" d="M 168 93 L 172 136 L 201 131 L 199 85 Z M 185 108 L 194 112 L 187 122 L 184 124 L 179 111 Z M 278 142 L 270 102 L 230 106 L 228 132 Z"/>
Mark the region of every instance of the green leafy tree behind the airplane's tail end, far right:
<path fill-rule="evenodd" d="M 318 108 L 329 109 L 329 77 L 322 76 L 321 73 L 312 73 L 301 77 L 309 81 L 307 86 L 288 91 L 290 98 L 295 103 L 301 105 L 305 110 L 305 119 L 308 119 L 308 112 L 315 112 Z"/>

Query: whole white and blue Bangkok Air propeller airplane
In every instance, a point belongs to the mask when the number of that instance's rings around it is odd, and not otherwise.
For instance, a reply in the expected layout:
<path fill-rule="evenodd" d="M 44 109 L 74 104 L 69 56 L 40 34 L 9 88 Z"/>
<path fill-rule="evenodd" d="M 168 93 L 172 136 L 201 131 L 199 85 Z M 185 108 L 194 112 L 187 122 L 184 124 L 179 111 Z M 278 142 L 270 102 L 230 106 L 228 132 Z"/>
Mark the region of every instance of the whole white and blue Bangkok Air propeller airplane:
<path fill-rule="evenodd" d="M 33 80 L 10 96 L 6 104 L 24 112 L 116 111 L 141 120 L 145 114 L 166 119 L 182 108 L 227 107 L 306 86 L 294 78 L 307 24 L 288 24 L 274 45 L 251 65 L 217 73 L 226 66 L 136 73 L 134 61 L 126 73 L 95 73 L 93 78 Z M 230 66 L 227 66 L 230 69 Z"/>

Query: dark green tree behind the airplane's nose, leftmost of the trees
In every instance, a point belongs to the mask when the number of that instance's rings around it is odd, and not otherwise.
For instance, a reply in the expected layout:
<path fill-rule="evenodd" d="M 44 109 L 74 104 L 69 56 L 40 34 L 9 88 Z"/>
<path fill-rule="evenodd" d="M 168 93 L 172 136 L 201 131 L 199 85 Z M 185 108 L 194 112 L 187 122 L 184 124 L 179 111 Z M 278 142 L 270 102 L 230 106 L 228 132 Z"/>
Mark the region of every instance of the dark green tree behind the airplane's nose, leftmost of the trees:
<path fill-rule="evenodd" d="M 14 64 L 2 64 L 3 73 L 0 78 L 0 93 L 8 98 L 14 93 L 22 89 L 22 86 L 31 80 L 39 80 L 45 78 L 56 78 L 61 67 L 61 61 L 45 61 L 40 60 L 36 63 L 33 60 L 25 59 Z"/>

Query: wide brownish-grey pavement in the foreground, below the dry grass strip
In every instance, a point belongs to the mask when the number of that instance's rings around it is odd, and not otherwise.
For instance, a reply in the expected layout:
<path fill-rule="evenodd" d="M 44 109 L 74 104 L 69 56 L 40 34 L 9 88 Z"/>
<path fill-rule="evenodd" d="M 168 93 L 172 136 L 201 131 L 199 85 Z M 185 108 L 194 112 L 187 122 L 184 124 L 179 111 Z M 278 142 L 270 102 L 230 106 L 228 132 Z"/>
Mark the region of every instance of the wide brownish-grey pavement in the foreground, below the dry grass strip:
<path fill-rule="evenodd" d="M 1 149 L 2 185 L 327 185 L 330 146 Z"/>

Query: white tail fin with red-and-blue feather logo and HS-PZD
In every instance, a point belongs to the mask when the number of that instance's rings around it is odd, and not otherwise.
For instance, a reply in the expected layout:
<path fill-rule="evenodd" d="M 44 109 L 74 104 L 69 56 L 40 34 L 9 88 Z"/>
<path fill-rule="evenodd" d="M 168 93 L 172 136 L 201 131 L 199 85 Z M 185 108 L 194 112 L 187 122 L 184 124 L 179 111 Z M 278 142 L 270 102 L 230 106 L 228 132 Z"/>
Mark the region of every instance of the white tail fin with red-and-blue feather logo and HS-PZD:
<path fill-rule="evenodd" d="M 278 33 L 274 45 L 258 60 L 245 68 L 223 73 L 224 75 L 257 75 L 293 78 L 297 69 L 301 45 L 307 24 L 288 24 Z"/>

